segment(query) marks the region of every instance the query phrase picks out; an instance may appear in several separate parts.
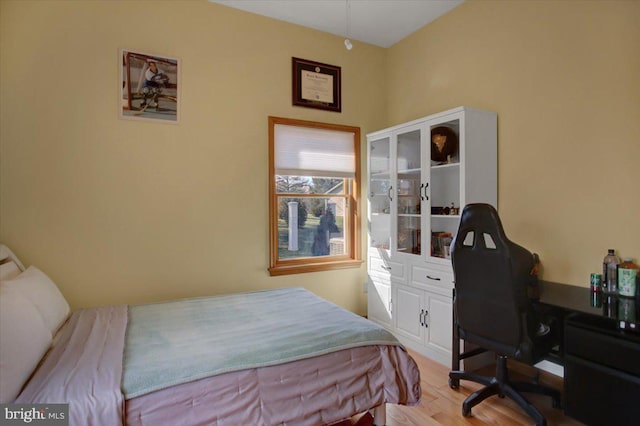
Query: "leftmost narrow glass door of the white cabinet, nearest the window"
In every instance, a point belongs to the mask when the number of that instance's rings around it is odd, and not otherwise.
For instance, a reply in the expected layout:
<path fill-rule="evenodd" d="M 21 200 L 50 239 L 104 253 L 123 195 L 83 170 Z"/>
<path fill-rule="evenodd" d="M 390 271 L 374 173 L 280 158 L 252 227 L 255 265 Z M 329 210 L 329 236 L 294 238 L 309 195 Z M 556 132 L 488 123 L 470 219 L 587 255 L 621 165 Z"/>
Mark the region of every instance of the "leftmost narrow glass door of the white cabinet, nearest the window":
<path fill-rule="evenodd" d="M 369 143 L 369 244 L 391 248 L 391 137 Z"/>

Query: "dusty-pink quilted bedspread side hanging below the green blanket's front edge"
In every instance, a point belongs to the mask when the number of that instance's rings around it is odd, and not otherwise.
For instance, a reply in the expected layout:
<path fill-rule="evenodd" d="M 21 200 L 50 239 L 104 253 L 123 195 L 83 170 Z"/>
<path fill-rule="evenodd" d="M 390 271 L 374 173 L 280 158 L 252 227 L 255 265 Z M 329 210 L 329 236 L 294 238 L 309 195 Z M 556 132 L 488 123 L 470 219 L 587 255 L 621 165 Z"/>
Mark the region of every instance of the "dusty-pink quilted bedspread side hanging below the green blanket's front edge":
<path fill-rule="evenodd" d="M 386 345 L 220 374 L 125 405 L 127 426 L 319 426 L 420 397 L 414 360 Z"/>

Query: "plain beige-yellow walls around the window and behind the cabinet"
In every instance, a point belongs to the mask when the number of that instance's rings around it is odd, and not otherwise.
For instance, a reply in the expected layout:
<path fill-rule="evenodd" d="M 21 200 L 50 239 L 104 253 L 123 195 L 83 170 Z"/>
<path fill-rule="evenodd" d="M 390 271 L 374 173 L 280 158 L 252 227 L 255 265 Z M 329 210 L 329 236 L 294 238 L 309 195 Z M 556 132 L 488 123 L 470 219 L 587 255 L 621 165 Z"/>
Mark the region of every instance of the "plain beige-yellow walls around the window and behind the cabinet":
<path fill-rule="evenodd" d="M 74 307 L 301 285 L 364 312 L 364 266 L 268 276 L 268 115 L 364 138 L 494 110 L 499 210 L 544 277 L 640 257 L 638 2 L 469 1 L 350 52 L 204 0 L 0 5 L 0 240 Z M 182 60 L 179 125 L 118 119 L 122 48 Z M 342 67 L 341 114 L 291 106 L 292 56 Z"/>

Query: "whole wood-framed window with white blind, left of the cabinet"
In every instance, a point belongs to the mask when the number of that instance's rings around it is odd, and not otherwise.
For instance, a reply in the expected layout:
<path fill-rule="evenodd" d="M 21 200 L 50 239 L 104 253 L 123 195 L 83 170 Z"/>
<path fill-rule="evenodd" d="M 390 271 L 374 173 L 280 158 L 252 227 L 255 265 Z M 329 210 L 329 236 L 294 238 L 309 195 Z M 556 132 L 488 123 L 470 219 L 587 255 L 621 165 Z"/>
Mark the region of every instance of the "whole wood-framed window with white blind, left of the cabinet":
<path fill-rule="evenodd" d="M 269 117 L 271 275 L 360 267 L 360 128 Z"/>

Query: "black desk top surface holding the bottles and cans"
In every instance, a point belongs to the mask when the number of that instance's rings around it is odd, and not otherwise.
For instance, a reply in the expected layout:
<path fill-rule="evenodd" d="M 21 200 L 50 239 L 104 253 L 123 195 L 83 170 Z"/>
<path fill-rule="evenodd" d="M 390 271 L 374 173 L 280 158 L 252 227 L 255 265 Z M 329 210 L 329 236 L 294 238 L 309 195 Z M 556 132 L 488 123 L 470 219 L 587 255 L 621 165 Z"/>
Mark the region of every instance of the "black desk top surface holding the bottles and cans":
<path fill-rule="evenodd" d="M 628 298 L 592 292 L 588 287 L 577 287 L 550 281 L 540 281 L 538 303 L 572 312 L 608 318 L 617 327 L 640 333 L 640 297 Z"/>

